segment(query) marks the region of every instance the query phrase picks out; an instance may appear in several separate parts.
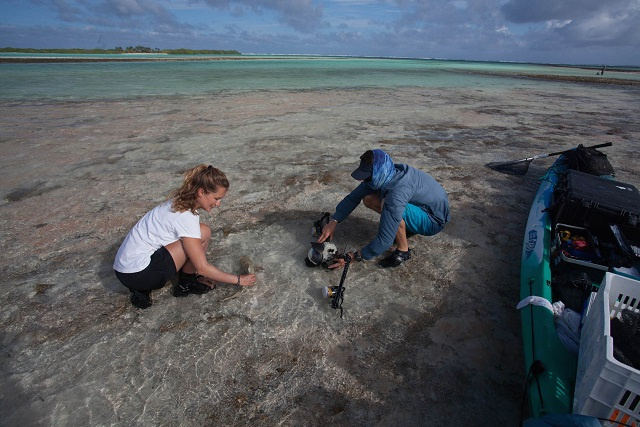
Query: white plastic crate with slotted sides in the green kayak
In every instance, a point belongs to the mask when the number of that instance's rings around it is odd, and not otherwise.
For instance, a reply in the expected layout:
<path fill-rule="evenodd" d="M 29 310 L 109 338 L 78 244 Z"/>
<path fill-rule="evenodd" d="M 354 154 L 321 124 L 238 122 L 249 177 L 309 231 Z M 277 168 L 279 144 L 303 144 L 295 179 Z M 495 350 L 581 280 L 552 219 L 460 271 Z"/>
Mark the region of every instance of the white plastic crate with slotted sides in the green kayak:
<path fill-rule="evenodd" d="M 614 359 L 610 333 L 627 308 L 640 311 L 640 281 L 606 273 L 582 327 L 573 412 L 640 427 L 640 371 Z"/>

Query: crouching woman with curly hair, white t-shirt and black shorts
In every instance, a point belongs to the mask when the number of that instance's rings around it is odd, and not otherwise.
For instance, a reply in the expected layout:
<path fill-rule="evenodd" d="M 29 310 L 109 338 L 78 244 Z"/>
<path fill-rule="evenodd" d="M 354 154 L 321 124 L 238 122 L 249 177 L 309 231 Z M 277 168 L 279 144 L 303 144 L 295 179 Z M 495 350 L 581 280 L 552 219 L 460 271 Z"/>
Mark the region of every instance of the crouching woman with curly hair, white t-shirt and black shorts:
<path fill-rule="evenodd" d="M 151 291 L 162 288 L 179 272 L 173 295 L 205 294 L 212 281 L 252 286 L 254 274 L 235 275 L 209 264 L 206 250 L 211 229 L 200 223 L 198 209 L 219 207 L 229 181 L 219 169 L 199 165 L 188 170 L 172 198 L 149 211 L 129 231 L 116 255 L 113 268 L 131 291 L 131 304 L 151 306 Z"/>

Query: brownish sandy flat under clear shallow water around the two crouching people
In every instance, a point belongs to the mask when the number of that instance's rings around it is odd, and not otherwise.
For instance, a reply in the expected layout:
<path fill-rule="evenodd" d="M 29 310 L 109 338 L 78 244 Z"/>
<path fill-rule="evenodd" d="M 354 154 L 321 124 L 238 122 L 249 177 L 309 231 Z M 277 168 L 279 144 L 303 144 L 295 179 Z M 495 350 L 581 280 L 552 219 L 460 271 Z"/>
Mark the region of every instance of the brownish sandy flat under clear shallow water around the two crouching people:
<path fill-rule="evenodd" d="M 260 91 L 116 101 L 0 101 L 0 424 L 517 425 L 524 383 L 521 244 L 538 178 L 496 160 L 613 142 L 640 184 L 640 89 Z M 322 298 L 340 271 L 303 259 L 311 225 L 369 148 L 432 174 L 453 220 L 394 270 L 354 264 L 344 318 Z M 231 189 L 202 221 L 208 257 L 259 284 L 220 284 L 148 310 L 111 268 L 130 227 L 190 166 Z M 359 207 L 335 236 L 366 244 Z"/>

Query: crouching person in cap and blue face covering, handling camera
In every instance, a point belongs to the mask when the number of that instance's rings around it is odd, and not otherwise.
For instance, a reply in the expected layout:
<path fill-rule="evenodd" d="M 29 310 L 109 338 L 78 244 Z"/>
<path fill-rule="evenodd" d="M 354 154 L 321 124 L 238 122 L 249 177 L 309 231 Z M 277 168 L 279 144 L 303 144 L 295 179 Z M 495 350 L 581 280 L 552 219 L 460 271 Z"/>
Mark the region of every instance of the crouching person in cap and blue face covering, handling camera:
<path fill-rule="evenodd" d="M 379 266 L 397 267 L 411 258 L 407 236 L 433 236 L 450 220 L 445 189 L 421 170 L 394 164 L 382 150 L 368 150 L 360 156 L 360 165 L 351 176 L 362 182 L 338 204 L 318 242 L 332 238 L 337 225 L 362 201 L 367 208 L 380 214 L 380 225 L 373 241 L 350 254 L 356 261 L 381 255 L 395 239 L 396 250 Z M 339 267 L 344 262 L 339 259 L 330 267 Z"/>

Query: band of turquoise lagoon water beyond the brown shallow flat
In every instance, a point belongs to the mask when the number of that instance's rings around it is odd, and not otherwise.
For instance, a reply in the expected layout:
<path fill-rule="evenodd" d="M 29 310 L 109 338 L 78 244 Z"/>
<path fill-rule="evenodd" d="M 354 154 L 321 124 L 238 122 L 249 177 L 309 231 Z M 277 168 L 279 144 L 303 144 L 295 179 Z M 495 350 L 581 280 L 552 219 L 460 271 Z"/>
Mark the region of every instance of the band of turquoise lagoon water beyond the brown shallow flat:
<path fill-rule="evenodd" d="M 10 55 L 0 58 L 3 56 Z M 131 62 L 3 63 L 0 98 L 121 99 L 252 90 L 392 87 L 505 89 L 548 85 L 523 79 L 523 74 L 572 78 L 595 75 L 594 69 L 575 67 L 419 59 L 203 57 L 192 61 L 187 60 L 192 57 L 178 56 L 184 61 L 140 62 L 135 58 Z M 607 77 L 640 81 L 640 72 L 608 72 Z"/>

